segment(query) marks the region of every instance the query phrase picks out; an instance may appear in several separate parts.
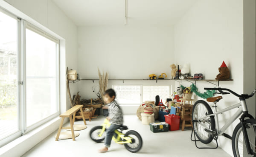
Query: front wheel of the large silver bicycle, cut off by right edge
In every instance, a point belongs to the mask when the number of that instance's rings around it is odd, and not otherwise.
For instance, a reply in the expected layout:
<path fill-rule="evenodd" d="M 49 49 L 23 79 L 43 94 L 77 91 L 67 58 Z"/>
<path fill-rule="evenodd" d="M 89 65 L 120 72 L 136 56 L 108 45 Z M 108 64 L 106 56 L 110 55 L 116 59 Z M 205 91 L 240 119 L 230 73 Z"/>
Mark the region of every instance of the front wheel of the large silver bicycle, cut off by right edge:
<path fill-rule="evenodd" d="M 250 143 L 250 150 L 253 152 L 253 157 L 256 157 L 256 119 L 246 119 L 244 122 Z M 243 154 L 247 154 L 241 123 L 234 129 L 232 135 L 232 149 L 234 157 L 243 157 Z"/>

